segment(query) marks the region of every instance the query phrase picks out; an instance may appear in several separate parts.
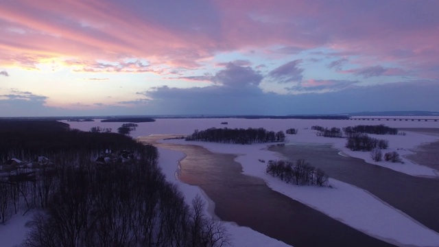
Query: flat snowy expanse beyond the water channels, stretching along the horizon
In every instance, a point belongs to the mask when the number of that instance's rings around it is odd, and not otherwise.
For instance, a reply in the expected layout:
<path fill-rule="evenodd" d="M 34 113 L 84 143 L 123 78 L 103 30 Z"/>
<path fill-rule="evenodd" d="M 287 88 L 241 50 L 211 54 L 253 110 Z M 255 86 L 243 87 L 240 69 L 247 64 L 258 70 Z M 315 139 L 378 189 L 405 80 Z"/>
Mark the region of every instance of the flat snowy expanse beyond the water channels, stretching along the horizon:
<path fill-rule="evenodd" d="M 384 118 L 384 117 L 383 117 Z M 117 132 L 117 128 L 123 123 L 100 122 L 99 119 L 93 122 L 68 122 L 71 128 L 89 131 L 92 127 L 112 128 Z M 228 122 L 227 125 L 221 124 Z M 419 134 L 416 132 L 406 132 L 406 135 L 374 135 L 370 137 L 377 139 L 387 139 L 390 148 L 385 152 L 396 151 L 404 161 L 401 163 L 375 162 L 370 158 L 369 152 L 352 152 L 344 147 L 346 139 L 317 137 L 316 130 L 311 130 L 311 126 L 323 126 L 327 128 L 343 128 L 357 125 L 378 125 L 384 124 L 392 128 L 439 128 L 439 122 L 436 121 L 366 121 L 366 120 L 326 120 L 326 119 L 156 119 L 154 122 L 139 123 L 139 127 L 131 132 L 132 137 L 145 137 L 150 134 L 192 134 L 193 130 L 205 130 L 206 128 L 265 128 L 266 130 L 287 130 L 288 128 L 298 129 L 298 134 L 287 135 L 289 142 L 307 142 L 307 143 L 331 143 L 333 148 L 339 149 L 342 153 L 349 156 L 362 158 L 368 163 L 381 165 L 394 169 L 397 172 L 413 176 L 439 176 L 437 171 L 429 167 L 414 164 L 403 156 L 412 154 L 412 149 L 420 144 L 438 141 L 439 136 Z"/>

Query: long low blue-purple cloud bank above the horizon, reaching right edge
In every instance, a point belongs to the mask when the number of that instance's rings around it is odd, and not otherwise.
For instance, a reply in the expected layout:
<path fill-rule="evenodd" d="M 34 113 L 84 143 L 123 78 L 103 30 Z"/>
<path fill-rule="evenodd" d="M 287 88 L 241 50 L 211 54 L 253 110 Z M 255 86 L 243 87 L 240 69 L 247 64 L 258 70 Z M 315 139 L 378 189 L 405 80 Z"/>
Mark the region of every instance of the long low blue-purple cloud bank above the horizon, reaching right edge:
<path fill-rule="evenodd" d="M 331 89 L 331 86 L 340 90 L 328 91 L 322 97 L 318 90 Z M 437 111 L 439 105 L 439 98 L 436 96 L 439 90 L 437 82 L 355 86 L 355 82 L 349 81 L 316 80 L 313 86 L 303 85 L 302 90 L 306 90 L 305 87 L 318 90 L 298 95 L 278 95 L 252 88 L 234 94 L 233 89 L 218 85 L 189 89 L 161 86 L 139 94 L 153 99 L 148 102 L 150 114 L 288 115 L 350 113 L 364 110 Z M 373 100 L 370 100 L 370 95 L 373 95 Z"/>

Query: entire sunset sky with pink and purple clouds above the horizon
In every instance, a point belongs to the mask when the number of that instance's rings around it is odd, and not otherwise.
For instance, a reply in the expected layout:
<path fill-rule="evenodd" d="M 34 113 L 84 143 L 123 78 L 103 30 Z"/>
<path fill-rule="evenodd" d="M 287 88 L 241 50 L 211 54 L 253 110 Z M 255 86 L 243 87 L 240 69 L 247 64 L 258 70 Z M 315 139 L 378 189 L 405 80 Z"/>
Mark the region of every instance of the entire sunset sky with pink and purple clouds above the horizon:
<path fill-rule="evenodd" d="M 439 111 L 436 0 L 0 0 L 0 117 Z"/>

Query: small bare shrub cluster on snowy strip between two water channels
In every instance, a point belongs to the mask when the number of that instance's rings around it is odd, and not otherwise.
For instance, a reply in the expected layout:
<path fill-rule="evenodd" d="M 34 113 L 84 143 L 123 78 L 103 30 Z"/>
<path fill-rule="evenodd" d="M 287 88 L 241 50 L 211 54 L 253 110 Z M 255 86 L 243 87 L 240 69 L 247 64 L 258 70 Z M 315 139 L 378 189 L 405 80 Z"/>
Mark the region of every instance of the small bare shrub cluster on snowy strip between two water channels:
<path fill-rule="evenodd" d="M 298 159 L 296 164 L 283 160 L 268 161 L 266 172 L 296 185 L 327 186 L 328 183 L 328 176 L 322 169 L 316 169 L 303 159 Z"/>

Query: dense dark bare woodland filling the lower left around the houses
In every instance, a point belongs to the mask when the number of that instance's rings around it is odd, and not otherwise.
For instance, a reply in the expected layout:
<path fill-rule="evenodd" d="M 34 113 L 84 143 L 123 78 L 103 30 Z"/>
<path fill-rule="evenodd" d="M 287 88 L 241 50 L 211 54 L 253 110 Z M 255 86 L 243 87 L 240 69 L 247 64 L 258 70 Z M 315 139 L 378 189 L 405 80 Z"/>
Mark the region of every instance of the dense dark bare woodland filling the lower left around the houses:
<path fill-rule="evenodd" d="M 130 150 L 130 163 L 97 165 L 104 150 Z M 0 157 L 51 165 L 0 176 L 0 222 L 38 209 L 26 247 L 226 246 L 200 197 L 185 203 L 158 167 L 158 152 L 115 133 L 69 130 L 56 121 L 0 121 Z M 23 176 L 25 174 L 25 176 Z"/>

